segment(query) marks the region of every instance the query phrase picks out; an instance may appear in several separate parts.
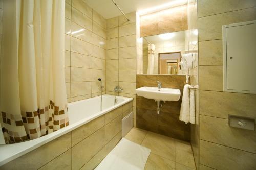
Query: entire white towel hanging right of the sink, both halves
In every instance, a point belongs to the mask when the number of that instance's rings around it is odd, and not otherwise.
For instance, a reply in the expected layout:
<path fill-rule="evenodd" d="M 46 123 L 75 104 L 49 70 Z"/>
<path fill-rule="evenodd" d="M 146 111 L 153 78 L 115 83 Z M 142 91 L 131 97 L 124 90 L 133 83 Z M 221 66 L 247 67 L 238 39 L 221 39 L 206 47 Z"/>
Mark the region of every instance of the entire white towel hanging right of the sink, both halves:
<path fill-rule="evenodd" d="M 183 89 L 179 119 L 185 123 L 195 124 L 195 94 L 193 90 L 189 90 L 189 87 L 192 86 L 186 84 Z"/>

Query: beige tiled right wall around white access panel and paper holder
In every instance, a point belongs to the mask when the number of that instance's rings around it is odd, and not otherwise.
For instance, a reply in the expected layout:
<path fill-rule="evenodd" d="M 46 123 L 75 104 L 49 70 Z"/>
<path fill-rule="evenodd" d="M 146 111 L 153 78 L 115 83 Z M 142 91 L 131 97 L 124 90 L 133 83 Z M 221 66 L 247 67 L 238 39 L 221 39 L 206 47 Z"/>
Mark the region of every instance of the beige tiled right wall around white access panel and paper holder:
<path fill-rule="evenodd" d="M 256 94 L 223 92 L 222 25 L 256 20 L 256 1 L 198 0 L 200 169 L 255 169 L 256 131 L 231 128 L 228 114 L 256 119 Z"/>

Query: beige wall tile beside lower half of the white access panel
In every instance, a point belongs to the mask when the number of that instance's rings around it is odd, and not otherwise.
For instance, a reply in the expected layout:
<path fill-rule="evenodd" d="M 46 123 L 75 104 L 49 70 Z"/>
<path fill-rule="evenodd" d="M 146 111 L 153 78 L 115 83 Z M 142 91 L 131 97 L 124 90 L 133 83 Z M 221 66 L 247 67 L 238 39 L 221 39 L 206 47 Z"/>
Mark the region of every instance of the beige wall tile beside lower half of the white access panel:
<path fill-rule="evenodd" d="M 223 66 L 199 66 L 200 90 L 223 91 Z"/>

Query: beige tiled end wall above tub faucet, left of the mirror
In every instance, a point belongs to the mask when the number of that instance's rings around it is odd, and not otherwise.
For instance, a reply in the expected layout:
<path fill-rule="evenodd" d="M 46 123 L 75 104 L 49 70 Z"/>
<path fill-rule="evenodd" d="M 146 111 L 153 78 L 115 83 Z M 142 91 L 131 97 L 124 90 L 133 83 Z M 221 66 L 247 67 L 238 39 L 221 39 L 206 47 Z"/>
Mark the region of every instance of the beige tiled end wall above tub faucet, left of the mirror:
<path fill-rule="evenodd" d="M 106 20 L 106 93 L 134 98 L 136 126 L 136 12 Z"/>

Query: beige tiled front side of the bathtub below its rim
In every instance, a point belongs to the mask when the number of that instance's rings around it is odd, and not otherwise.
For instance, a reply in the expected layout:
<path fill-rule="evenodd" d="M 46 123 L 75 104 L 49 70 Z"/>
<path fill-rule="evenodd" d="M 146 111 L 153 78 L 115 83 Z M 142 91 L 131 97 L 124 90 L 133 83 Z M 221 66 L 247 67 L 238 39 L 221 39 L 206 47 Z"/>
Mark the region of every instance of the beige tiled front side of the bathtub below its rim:
<path fill-rule="evenodd" d="M 133 102 L 3 165 L 0 169 L 94 169 L 122 138 L 122 118 Z"/>

